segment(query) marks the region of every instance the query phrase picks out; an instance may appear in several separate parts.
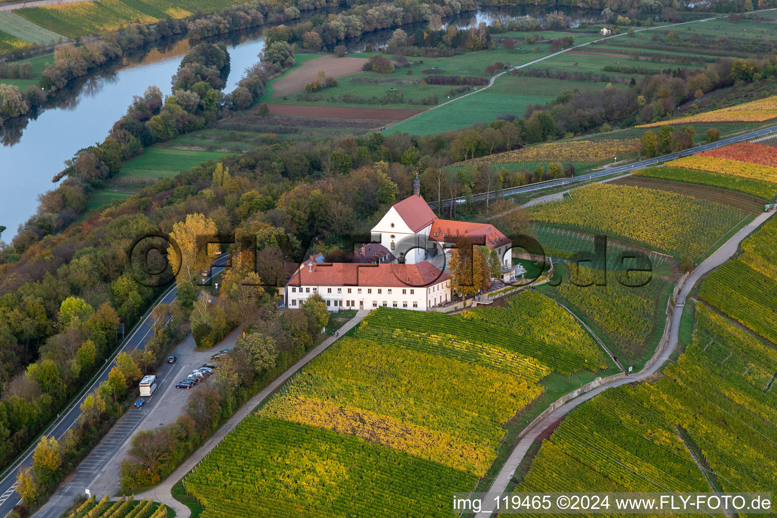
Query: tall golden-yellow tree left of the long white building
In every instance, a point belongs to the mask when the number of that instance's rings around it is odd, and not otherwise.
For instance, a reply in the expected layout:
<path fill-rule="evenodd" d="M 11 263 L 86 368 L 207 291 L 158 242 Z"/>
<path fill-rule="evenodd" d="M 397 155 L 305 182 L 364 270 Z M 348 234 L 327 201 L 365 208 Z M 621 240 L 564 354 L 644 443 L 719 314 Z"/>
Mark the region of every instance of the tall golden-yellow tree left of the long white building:
<path fill-rule="evenodd" d="M 211 265 L 211 255 L 207 253 L 204 239 L 216 234 L 216 224 L 203 214 L 186 214 L 186 221 L 172 225 L 171 237 L 178 244 L 178 249 L 169 246 L 167 249 L 170 263 L 173 267 L 180 265 L 176 276 L 179 280 L 190 280 Z"/>

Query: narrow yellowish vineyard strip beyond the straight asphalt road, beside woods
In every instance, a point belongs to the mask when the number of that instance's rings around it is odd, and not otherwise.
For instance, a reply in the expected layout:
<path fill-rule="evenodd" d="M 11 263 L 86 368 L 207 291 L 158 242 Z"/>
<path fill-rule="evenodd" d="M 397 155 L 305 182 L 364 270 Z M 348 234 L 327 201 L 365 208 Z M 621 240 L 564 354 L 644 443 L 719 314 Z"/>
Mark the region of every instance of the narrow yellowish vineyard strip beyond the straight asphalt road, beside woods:
<path fill-rule="evenodd" d="M 614 162 L 615 157 L 625 158 L 636 155 L 638 141 L 569 141 L 539 144 L 528 148 L 504 151 L 479 158 L 474 158 L 463 165 L 499 164 L 508 162 L 563 162 L 600 165 Z M 520 164 L 522 165 L 522 164 Z"/>

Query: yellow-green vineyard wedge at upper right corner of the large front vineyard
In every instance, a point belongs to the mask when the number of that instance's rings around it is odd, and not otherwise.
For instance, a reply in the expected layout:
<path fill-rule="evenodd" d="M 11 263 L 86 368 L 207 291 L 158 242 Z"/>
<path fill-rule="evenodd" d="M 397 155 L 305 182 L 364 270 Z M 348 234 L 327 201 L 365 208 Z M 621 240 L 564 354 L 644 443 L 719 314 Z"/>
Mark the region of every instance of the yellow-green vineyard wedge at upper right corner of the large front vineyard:
<path fill-rule="evenodd" d="M 526 290 L 511 298 L 507 308 L 479 306 L 465 312 L 462 318 L 486 322 L 496 329 L 507 328 L 531 339 L 571 349 L 594 365 L 607 367 L 605 355 L 591 335 L 559 304 L 538 291 Z"/>

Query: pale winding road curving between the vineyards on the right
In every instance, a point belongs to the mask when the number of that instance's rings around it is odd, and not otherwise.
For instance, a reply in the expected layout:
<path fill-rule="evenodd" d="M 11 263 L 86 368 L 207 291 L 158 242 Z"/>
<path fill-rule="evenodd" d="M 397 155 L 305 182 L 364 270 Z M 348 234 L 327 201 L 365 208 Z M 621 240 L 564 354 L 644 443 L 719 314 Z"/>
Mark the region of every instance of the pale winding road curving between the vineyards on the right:
<path fill-rule="evenodd" d="M 507 462 L 505 462 L 497 477 L 494 478 L 489 492 L 493 493 L 493 495 L 504 492 L 505 488 L 507 488 L 507 484 L 510 482 L 510 479 L 515 473 L 515 470 L 517 469 L 518 465 L 521 464 L 524 455 L 528 451 L 528 448 L 531 446 L 531 443 L 533 443 L 542 432 L 548 429 L 549 426 L 552 426 L 554 422 L 558 421 L 564 415 L 571 412 L 575 407 L 577 407 L 577 405 L 580 405 L 583 402 L 587 402 L 595 395 L 601 394 L 601 392 L 605 391 L 607 388 L 618 387 L 627 383 L 633 383 L 634 381 L 643 380 L 651 374 L 655 374 L 658 370 L 660 370 L 661 367 L 664 367 L 664 363 L 669 360 L 669 356 L 674 353 L 674 349 L 678 345 L 678 338 L 680 335 L 680 320 L 682 318 L 683 308 L 685 308 L 685 300 L 688 298 L 688 294 L 691 293 L 694 284 L 702 279 L 703 276 L 706 276 L 707 273 L 711 272 L 713 269 L 716 269 L 718 266 L 722 265 L 723 262 L 726 262 L 728 259 L 730 259 L 730 257 L 733 256 L 735 252 L 737 252 L 737 247 L 739 246 L 740 242 L 742 242 L 742 240 L 746 238 L 747 235 L 750 235 L 751 232 L 753 232 L 756 228 L 758 228 L 759 225 L 768 220 L 768 218 L 772 217 L 774 214 L 775 211 L 773 210 L 768 213 L 759 214 L 758 217 L 751 221 L 750 224 L 747 224 L 746 227 L 742 228 L 737 232 L 737 234 L 733 235 L 732 238 L 723 243 L 720 249 L 717 249 L 715 252 L 713 252 L 713 254 L 709 256 L 706 261 L 697 266 L 696 269 L 693 270 L 693 272 L 688 276 L 688 279 L 685 281 L 685 285 L 683 285 L 680 293 L 678 294 L 677 305 L 675 306 L 674 313 L 672 314 L 671 327 L 669 329 L 669 342 L 667 343 L 666 348 L 664 348 L 660 354 L 653 356 L 653 358 L 650 359 L 646 366 L 643 367 L 643 370 L 640 370 L 638 373 L 632 374 L 631 376 L 627 376 L 618 381 L 600 385 L 598 388 L 594 388 L 594 390 L 586 392 L 584 395 L 580 395 L 579 397 L 566 402 L 566 404 L 557 408 L 555 412 L 551 412 L 549 415 L 547 415 L 545 419 L 541 419 L 533 426 L 531 426 L 530 429 L 527 429 L 524 433 L 524 436 L 517 443 L 513 452 L 510 454 L 510 457 L 507 458 Z M 487 497 L 484 503 L 486 506 L 484 506 L 481 513 L 476 515 L 476 518 L 489 518 L 489 516 L 491 516 L 493 513 L 494 506 L 496 506 L 496 504 L 493 502 L 493 499 Z"/>

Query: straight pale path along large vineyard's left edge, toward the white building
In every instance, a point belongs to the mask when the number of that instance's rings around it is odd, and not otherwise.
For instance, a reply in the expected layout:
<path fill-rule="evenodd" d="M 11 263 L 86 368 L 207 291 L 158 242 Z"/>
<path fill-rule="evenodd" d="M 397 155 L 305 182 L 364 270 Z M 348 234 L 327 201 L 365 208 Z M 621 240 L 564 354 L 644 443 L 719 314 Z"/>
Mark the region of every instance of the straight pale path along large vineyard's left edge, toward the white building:
<path fill-rule="evenodd" d="M 310 360 L 315 358 L 315 356 L 319 356 L 319 354 L 326 350 L 327 347 L 331 346 L 336 341 L 336 339 L 339 338 L 339 335 L 343 335 L 350 331 L 350 329 L 353 329 L 354 326 L 361 322 L 362 318 L 366 317 L 370 311 L 371 310 L 367 309 L 357 311 L 356 316 L 351 318 L 343 325 L 343 327 L 340 328 L 338 336 L 330 336 L 328 339 L 321 342 L 318 346 L 303 356 L 301 360 L 299 360 L 297 363 L 294 363 L 293 366 L 289 367 L 289 369 L 286 370 L 284 374 L 281 374 L 275 379 L 275 381 L 267 385 L 263 391 L 249 399 L 245 405 L 242 405 L 242 407 L 237 412 L 235 412 L 235 415 L 232 415 L 232 417 L 229 418 L 229 420 L 225 422 L 221 428 L 216 430 L 213 436 L 207 440 L 207 442 L 204 443 L 199 450 L 191 454 L 191 456 L 187 458 L 186 461 L 183 461 L 183 464 L 181 464 L 178 469 L 176 469 L 176 471 L 173 471 L 168 478 L 162 481 L 155 488 L 135 495 L 135 499 L 153 499 L 155 502 L 162 502 L 166 506 L 171 507 L 176 512 L 176 518 L 189 518 L 191 515 L 190 509 L 183 505 L 183 503 L 172 498 L 172 486 L 176 485 L 178 481 L 183 478 L 184 475 L 186 475 L 186 473 L 189 473 L 189 471 L 191 471 L 194 466 L 202 461 L 204 457 L 209 454 L 211 450 L 213 450 L 214 447 L 216 447 L 216 445 L 220 443 L 228 433 L 235 429 L 235 426 L 238 426 L 239 422 L 241 422 L 243 419 L 246 419 L 246 417 L 251 412 L 253 412 L 253 409 L 256 408 L 257 405 L 263 402 L 268 396 L 272 395 L 280 387 L 280 385 L 284 384 L 289 379 L 289 377 L 291 377 L 302 367 L 305 367 L 305 365 Z"/>

